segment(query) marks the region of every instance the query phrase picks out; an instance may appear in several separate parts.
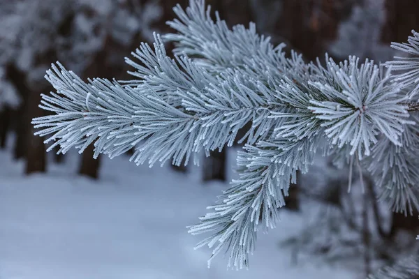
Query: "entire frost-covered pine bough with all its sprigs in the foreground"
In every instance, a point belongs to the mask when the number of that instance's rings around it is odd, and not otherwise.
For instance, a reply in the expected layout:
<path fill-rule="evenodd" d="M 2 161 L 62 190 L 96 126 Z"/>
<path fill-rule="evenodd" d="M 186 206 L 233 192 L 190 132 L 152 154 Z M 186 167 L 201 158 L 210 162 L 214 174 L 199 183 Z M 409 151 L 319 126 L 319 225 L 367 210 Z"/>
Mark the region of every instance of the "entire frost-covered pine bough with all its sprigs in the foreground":
<path fill-rule="evenodd" d="M 75 146 L 81 153 L 94 144 L 94 156 L 113 158 L 135 146 L 137 164 L 186 165 L 244 142 L 240 178 L 189 227 L 191 234 L 210 232 L 197 247 L 214 248 L 212 257 L 229 251 L 228 266 L 236 269 L 248 266 L 259 223 L 275 227 L 295 173 L 308 172 L 318 152 L 340 164 L 355 158 L 395 211 L 418 209 L 418 33 L 392 45 L 415 58 L 386 67 L 355 56 L 305 63 L 259 36 L 254 24 L 228 29 L 218 14 L 212 20 L 203 0 L 175 13 L 168 24 L 177 33 L 154 35 L 153 47 L 142 43 L 126 59 L 133 80 L 83 82 L 52 65 L 45 77 L 57 92 L 43 95 L 41 107 L 54 114 L 32 122 L 53 142 L 49 150 Z M 163 40 L 175 43 L 174 59 Z"/>

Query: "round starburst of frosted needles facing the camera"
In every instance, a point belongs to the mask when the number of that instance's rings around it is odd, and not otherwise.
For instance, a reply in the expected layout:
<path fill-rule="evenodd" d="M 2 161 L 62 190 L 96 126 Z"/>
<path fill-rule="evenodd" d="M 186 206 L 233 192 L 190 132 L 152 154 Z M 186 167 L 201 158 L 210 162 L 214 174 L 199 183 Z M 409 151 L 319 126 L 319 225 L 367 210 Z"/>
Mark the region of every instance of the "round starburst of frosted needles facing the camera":
<path fill-rule="evenodd" d="M 332 144 L 342 147 L 349 143 L 353 146 L 350 154 L 357 151 L 362 158 L 363 153 L 369 155 L 378 133 L 401 145 L 403 124 L 411 122 L 406 121 L 409 114 L 402 105 L 405 98 L 398 95 L 397 86 L 390 84 L 390 72 L 383 75 L 372 61 L 366 60 L 360 66 L 358 61 L 351 56 L 337 66 L 330 60 L 336 84 L 311 82 L 327 100 L 312 100 L 308 108 L 323 121 L 322 126 L 328 127 L 325 133 Z"/>

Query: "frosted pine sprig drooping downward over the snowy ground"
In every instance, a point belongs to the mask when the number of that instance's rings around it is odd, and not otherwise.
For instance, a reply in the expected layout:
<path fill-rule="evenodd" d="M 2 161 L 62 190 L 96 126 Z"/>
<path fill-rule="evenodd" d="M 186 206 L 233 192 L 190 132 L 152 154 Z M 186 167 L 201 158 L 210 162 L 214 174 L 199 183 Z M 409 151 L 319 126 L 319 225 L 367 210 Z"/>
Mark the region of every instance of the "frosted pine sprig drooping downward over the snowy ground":
<path fill-rule="evenodd" d="M 321 133 L 300 141 L 270 140 L 257 146 L 245 146 L 237 157 L 242 168 L 240 179 L 223 192 L 213 210 L 200 218 L 201 223 L 190 227 L 191 234 L 212 232 L 196 248 L 214 247 L 211 260 L 224 248 L 230 250 L 228 266 L 242 269 L 249 264 L 249 254 L 256 244 L 258 223 L 263 229 L 274 228 L 279 220 L 278 209 L 285 205 L 291 183 L 296 183 L 296 171 L 308 171 L 314 153 L 319 148 Z M 260 219 L 260 220 L 259 220 Z"/>

